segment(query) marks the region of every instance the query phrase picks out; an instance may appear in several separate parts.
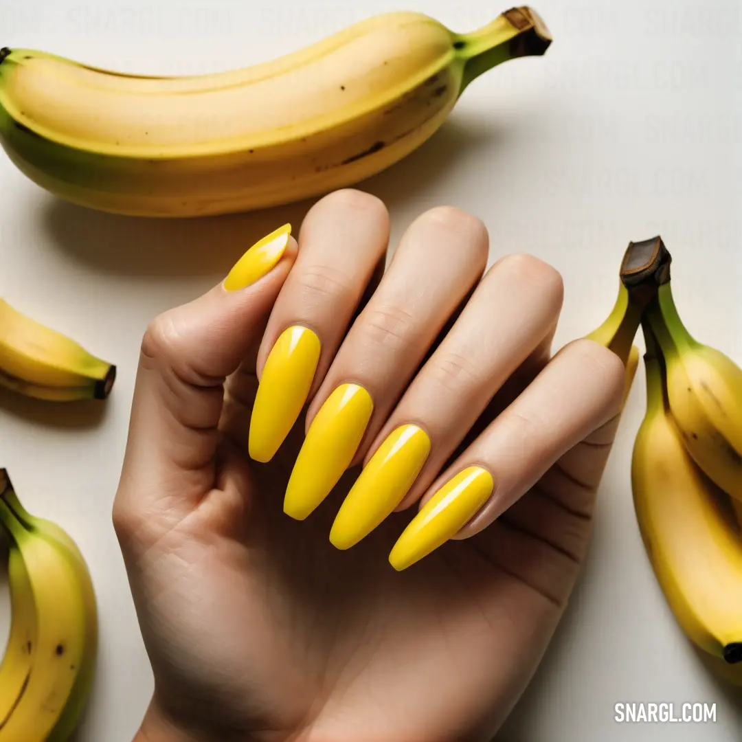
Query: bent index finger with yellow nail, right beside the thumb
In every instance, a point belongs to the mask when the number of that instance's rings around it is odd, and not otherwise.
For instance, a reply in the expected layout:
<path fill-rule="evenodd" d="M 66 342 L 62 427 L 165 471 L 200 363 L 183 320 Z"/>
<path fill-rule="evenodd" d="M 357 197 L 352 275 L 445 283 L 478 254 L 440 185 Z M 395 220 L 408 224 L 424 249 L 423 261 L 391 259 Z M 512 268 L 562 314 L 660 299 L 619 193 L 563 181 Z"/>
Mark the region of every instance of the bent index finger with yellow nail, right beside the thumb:
<path fill-rule="evenodd" d="M 309 210 L 257 355 L 248 444 L 255 461 L 275 456 L 324 378 L 388 241 L 389 214 L 370 194 L 335 191 Z"/>

